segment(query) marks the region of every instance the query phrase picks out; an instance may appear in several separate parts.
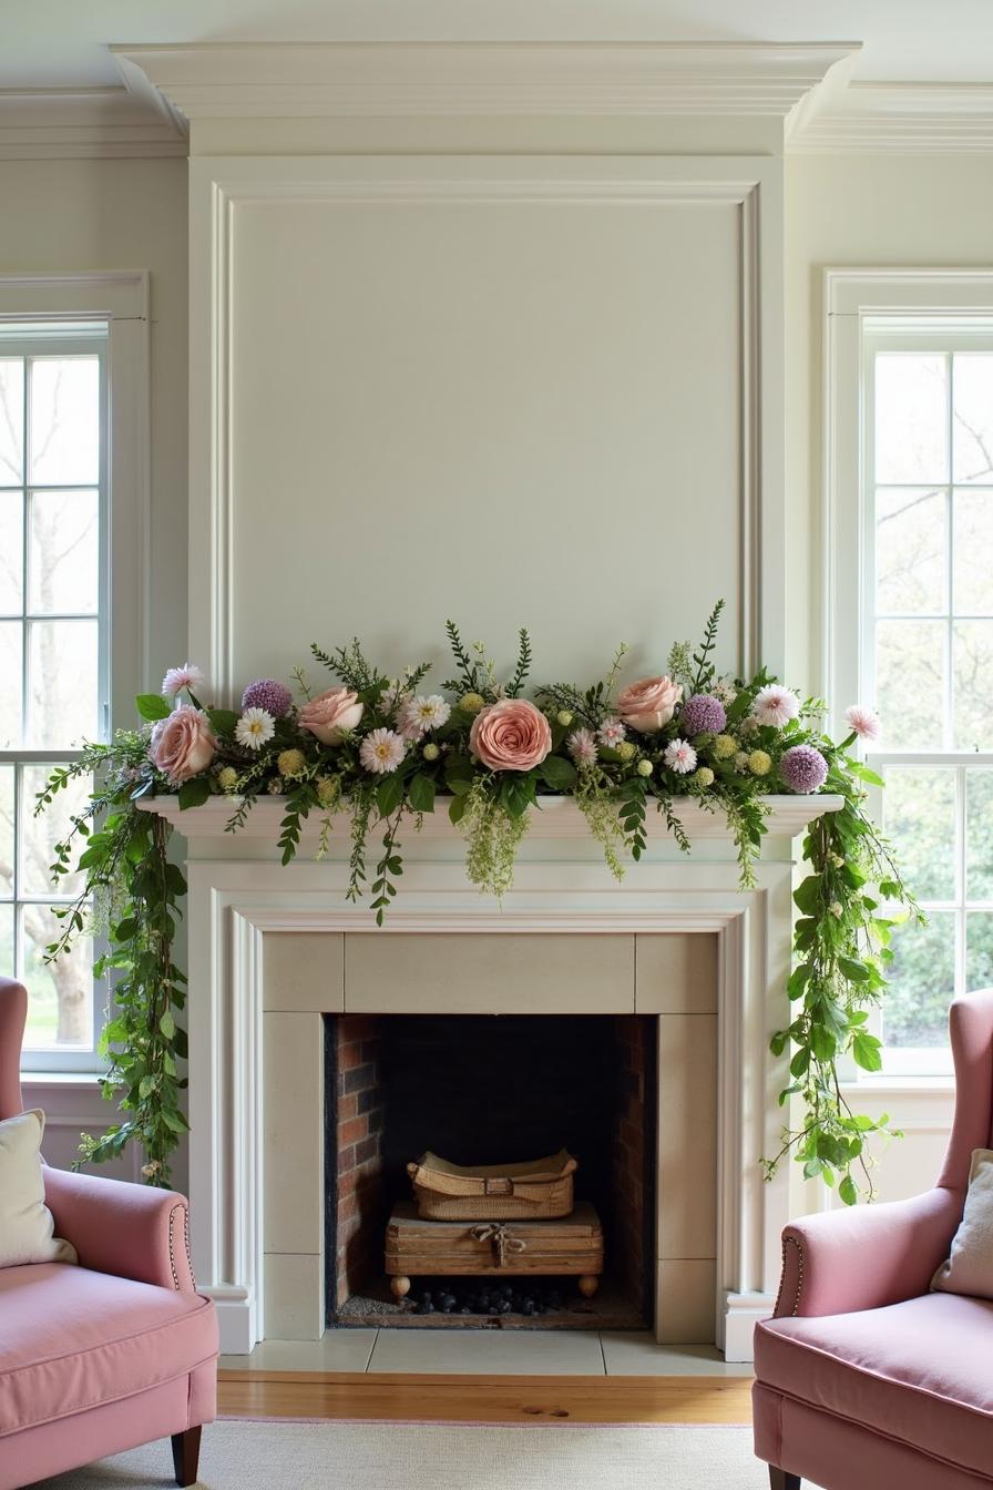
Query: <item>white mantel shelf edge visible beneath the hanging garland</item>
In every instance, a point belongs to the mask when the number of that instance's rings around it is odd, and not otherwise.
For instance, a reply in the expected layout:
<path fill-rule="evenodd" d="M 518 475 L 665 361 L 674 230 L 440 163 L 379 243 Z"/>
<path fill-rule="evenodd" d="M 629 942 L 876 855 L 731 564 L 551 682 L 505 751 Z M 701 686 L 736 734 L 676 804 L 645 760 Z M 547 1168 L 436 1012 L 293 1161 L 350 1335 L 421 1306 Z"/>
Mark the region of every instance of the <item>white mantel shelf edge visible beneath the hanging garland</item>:
<path fill-rule="evenodd" d="M 796 837 L 808 822 L 823 817 L 825 812 L 838 812 L 843 800 L 843 797 L 828 793 L 811 797 L 768 796 L 765 797 L 768 808 L 765 820 L 767 836 Z M 165 818 L 167 822 L 171 822 L 188 839 L 217 839 L 225 837 L 228 822 L 237 811 L 238 803 L 238 797 L 211 797 L 201 808 L 188 808 L 183 812 L 180 811 L 177 797 L 165 796 L 143 797 L 138 806 L 144 812 L 155 812 L 158 817 Z M 447 797 L 439 797 L 436 811 L 424 815 L 420 837 L 459 839 L 459 830 L 448 820 L 447 803 Z M 529 839 L 590 839 L 587 820 L 570 797 L 539 797 L 537 809 L 531 814 Z M 259 797 L 243 827 L 235 834 L 226 834 L 228 840 L 269 839 L 272 846 L 275 846 L 284 814 L 286 797 Z M 698 839 L 731 840 L 731 831 L 719 809 L 710 812 L 691 797 L 683 797 L 676 802 L 676 815 L 683 824 L 691 843 Z M 313 811 L 304 827 L 302 837 L 316 837 L 320 822 L 320 811 Z M 671 833 L 665 825 L 664 817 L 660 812 L 652 812 L 651 808 L 646 827 L 649 842 L 664 843 L 665 840 L 671 840 Z M 348 818 L 344 814 L 338 814 L 332 837 L 339 840 L 344 836 L 347 840 L 347 833 Z M 412 836 L 414 825 L 409 824 L 408 837 Z"/>

